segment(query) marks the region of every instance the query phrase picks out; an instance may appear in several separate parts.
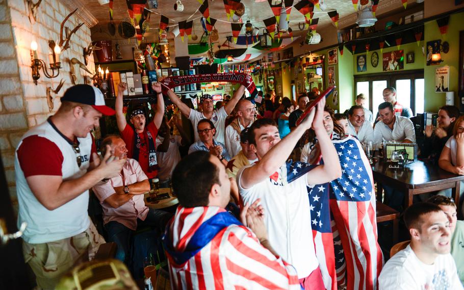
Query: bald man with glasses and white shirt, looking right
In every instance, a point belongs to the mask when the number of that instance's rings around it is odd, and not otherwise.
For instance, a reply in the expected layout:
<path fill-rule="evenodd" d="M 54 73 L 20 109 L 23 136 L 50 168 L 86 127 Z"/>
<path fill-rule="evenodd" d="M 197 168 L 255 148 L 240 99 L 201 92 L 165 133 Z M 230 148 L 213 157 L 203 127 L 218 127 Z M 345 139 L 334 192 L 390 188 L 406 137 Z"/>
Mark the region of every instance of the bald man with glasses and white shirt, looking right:
<path fill-rule="evenodd" d="M 243 129 L 253 124 L 256 113 L 254 104 L 248 100 L 240 100 L 237 103 L 237 118 L 225 128 L 225 148 L 230 156 L 237 155 L 242 147 L 240 146 L 240 133 Z"/>

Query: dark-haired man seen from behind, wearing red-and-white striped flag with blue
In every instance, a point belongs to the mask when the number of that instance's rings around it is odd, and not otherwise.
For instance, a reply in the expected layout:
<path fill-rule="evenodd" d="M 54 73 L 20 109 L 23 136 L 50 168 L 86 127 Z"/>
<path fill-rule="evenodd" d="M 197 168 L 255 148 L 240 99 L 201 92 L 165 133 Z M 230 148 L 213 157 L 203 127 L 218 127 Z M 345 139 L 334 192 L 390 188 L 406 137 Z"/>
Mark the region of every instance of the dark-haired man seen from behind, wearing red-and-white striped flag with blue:
<path fill-rule="evenodd" d="M 251 230 L 224 209 L 237 184 L 216 157 L 188 155 L 172 181 L 180 205 L 163 242 L 173 289 L 300 289 L 295 269 L 269 244 L 262 207 L 243 209 Z"/>

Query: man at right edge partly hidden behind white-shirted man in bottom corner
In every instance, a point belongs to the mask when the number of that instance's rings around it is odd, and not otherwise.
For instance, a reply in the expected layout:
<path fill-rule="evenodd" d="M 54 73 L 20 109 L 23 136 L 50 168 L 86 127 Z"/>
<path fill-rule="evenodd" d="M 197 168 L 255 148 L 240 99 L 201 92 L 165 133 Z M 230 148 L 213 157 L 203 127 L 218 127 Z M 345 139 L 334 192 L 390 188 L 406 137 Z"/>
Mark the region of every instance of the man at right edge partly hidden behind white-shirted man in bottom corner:
<path fill-rule="evenodd" d="M 429 203 L 436 204 L 446 214 L 448 221 L 450 222 L 451 231 L 451 256 L 454 258 L 456 263 L 457 275 L 464 284 L 464 248 L 462 247 L 464 242 L 464 222 L 457 220 L 456 204 L 450 197 L 436 195 L 427 200 Z"/>

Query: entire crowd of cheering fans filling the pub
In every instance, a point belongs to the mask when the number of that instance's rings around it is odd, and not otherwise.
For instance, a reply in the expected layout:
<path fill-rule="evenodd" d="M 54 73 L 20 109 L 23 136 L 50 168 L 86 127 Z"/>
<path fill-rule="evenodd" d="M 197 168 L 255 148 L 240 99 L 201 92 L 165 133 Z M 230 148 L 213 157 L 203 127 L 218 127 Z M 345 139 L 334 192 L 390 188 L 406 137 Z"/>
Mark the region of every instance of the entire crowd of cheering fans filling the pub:
<path fill-rule="evenodd" d="M 40 288 L 54 288 L 105 243 L 88 216 L 89 189 L 117 259 L 129 263 L 137 229 L 163 235 L 175 289 L 463 288 L 464 226 L 448 191 L 404 210 L 410 244 L 383 264 L 363 149 L 416 142 L 412 112 L 395 88 L 383 90 L 375 118 L 360 94 L 343 114 L 319 101 L 298 126 L 315 92 L 295 101 L 273 91 L 245 98 L 241 85 L 216 108 L 203 94 L 195 110 L 156 83 L 148 119 L 141 108 L 123 112 L 125 89 L 120 83 L 113 110 L 98 89 L 69 88 L 58 111 L 18 145 L 18 222 L 28 223 L 23 253 Z M 178 110 L 169 118 L 163 94 Z M 102 115 L 116 116 L 120 134 L 105 136 L 97 150 L 90 132 Z M 441 107 L 436 128 L 425 128 L 421 157 L 464 175 L 464 117 L 456 107 Z M 172 186 L 175 213 L 145 204 L 154 180 Z M 383 187 L 384 202 L 403 211 L 403 194 Z"/>

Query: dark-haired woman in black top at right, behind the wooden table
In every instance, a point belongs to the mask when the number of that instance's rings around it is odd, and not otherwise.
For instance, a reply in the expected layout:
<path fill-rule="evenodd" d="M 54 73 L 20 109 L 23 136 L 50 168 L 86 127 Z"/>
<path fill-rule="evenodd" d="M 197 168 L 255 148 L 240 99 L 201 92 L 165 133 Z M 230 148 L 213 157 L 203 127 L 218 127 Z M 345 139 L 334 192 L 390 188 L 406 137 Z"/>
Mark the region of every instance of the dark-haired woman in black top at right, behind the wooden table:
<path fill-rule="evenodd" d="M 442 153 L 445 143 L 453 135 L 453 129 L 456 119 L 459 117 L 459 109 L 455 106 L 443 106 L 438 111 L 436 119 L 436 129 L 433 132 L 433 126 L 425 127 L 425 140 L 421 147 L 421 156 L 429 158 L 430 162 L 438 165 L 440 154 Z"/>

